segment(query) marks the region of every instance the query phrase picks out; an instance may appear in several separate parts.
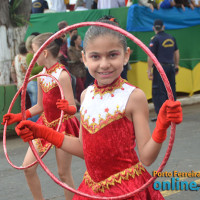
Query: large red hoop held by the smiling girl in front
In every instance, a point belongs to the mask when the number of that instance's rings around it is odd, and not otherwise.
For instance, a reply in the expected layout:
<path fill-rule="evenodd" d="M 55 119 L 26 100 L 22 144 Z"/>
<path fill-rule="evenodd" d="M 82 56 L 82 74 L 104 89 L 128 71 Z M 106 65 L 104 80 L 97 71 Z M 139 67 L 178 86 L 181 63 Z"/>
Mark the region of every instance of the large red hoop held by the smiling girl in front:
<path fill-rule="evenodd" d="M 168 94 L 168 97 L 170 100 L 174 100 L 173 98 L 173 93 L 172 93 L 172 90 L 171 90 L 171 87 L 170 87 L 170 84 L 169 84 L 169 81 L 167 79 L 167 76 L 164 72 L 164 70 L 162 69 L 160 63 L 158 62 L 158 60 L 156 59 L 156 57 L 153 55 L 153 53 L 139 40 L 137 39 L 135 36 L 133 36 L 132 34 L 128 33 L 127 31 L 119 28 L 119 27 L 116 27 L 114 25 L 110 25 L 110 24 L 107 24 L 107 23 L 102 23 L 102 22 L 82 22 L 82 23 L 78 23 L 78 24 L 74 24 L 74 25 L 71 25 L 71 26 L 68 26 L 60 31 L 58 31 L 57 33 L 55 33 L 54 35 L 52 35 L 41 47 L 40 49 L 37 51 L 37 53 L 35 54 L 33 60 L 31 61 L 31 64 L 30 64 L 30 69 L 32 69 L 32 67 L 34 66 L 37 58 L 39 57 L 40 53 L 45 49 L 45 47 L 47 45 L 49 45 L 52 41 L 54 41 L 56 38 L 59 38 L 61 37 L 61 35 L 63 35 L 64 33 L 74 29 L 74 28 L 80 28 L 80 27 L 84 27 L 84 26 L 101 26 L 101 27 L 105 27 L 105 28 L 108 28 L 108 29 L 112 29 L 114 31 L 117 31 L 123 35 L 125 35 L 126 37 L 128 37 L 129 39 L 131 39 L 133 42 L 135 42 L 139 47 L 141 47 L 141 49 L 152 59 L 153 63 L 155 64 L 158 72 L 160 73 L 161 75 L 161 78 L 164 82 L 164 85 L 165 85 L 165 88 L 167 90 L 167 94 Z M 27 87 L 27 79 L 29 77 L 30 73 L 27 72 L 26 74 L 26 77 L 25 77 L 25 81 L 24 81 L 24 85 L 23 85 L 23 91 L 22 91 L 22 100 L 25 99 L 25 95 L 26 95 L 26 90 L 25 88 Z M 24 115 L 24 118 L 25 118 L 25 106 L 24 106 L 24 102 L 22 102 L 23 106 L 22 106 L 22 113 Z M 171 123 L 171 133 L 170 133 L 170 141 L 169 141 L 169 145 L 168 145 L 168 148 L 167 148 L 167 151 L 166 151 L 166 154 L 165 154 L 165 157 L 163 158 L 163 161 L 160 165 L 160 167 L 158 168 L 158 172 L 161 172 L 164 168 L 164 166 L 166 165 L 168 159 L 169 159 L 169 156 L 171 154 L 171 151 L 172 151 L 172 147 L 173 147 L 173 143 L 174 143 L 174 139 L 175 139 L 175 128 L 176 128 L 176 125 L 175 123 Z M 84 196 L 84 197 L 88 197 L 88 198 L 93 198 L 93 199 L 124 199 L 124 198 L 128 198 L 128 197 L 131 197 L 131 196 L 134 196 L 134 194 L 138 193 L 138 192 L 141 192 L 142 190 L 144 190 L 145 188 L 147 188 L 157 177 L 152 177 L 150 178 L 144 185 L 142 185 L 140 188 L 136 189 L 135 191 L 133 192 L 130 192 L 130 193 L 127 193 L 127 194 L 124 194 L 124 195 L 120 195 L 120 196 L 115 196 L 115 197 L 100 197 L 100 196 L 92 196 L 92 195 L 89 195 L 89 194 L 86 194 L 86 193 L 83 193 L 81 191 L 77 191 L 71 187 L 69 187 L 67 184 L 61 182 L 60 180 L 58 180 L 57 177 L 54 176 L 54 174 L 52 174 L 52 172 L 46 167 L 46 165 L 43 163 L 43 161 L 40 159 L 40 157 L 38 156 L 32 142 L 29 142 L 29 145 L 35 155 L 35 157 L 37 158 L 38 162 L 40 163 L 40 165 L 42 166 L 42 168 L 45 170 L 45 172 L 53 179 L 54 182 L 56 182 L 58 185 L 62 186 L 63 188 L 73 192 L 73 193 L 76 193 L 80 196 Z"/>

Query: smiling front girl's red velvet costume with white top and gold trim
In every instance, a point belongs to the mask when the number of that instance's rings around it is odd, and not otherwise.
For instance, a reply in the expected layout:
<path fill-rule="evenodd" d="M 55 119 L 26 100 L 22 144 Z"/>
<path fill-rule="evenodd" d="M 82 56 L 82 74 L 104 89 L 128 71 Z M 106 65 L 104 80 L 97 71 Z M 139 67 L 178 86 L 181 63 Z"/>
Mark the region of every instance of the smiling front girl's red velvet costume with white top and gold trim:
<path fill-rule="evenodd" d="M 150 174 L 134 150 L 133 123 L 125 107 L 135 89 L 121 77 L 111 85 L 89 86 L 81 106 L 84 158 L 87 171 L 78 190 L 94 196 L 119 196 L 140 188 Z M 89 199 L 75 195 L 73 200 Z M 129 200 L 162 200 L 151 186 Z"/>

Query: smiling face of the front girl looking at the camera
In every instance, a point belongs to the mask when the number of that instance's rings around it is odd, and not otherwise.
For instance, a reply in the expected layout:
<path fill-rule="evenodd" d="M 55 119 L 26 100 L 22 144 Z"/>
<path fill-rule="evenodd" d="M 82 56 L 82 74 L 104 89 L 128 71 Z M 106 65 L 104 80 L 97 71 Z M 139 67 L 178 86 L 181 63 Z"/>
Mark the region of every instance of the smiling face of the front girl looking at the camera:
<path fill-rule="evenodd" d="M 130 49 L 127 48 L 125 52 L 119 39 L 111 34 L 90 40 L 85 54 L 82 55 L 85 66 L 99 86 L 110 84 L 117 79 L 129 56 Z"/>

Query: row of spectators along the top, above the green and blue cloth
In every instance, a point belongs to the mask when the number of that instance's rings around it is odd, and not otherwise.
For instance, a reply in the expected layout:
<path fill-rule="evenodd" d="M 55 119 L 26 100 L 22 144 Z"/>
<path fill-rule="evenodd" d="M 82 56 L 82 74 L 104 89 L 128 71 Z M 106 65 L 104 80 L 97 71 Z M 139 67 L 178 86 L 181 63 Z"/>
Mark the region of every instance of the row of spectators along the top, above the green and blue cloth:
<path fill-rule="evenodd" d="M 90 9 L 110 9 L 138 4 L 154 9 L 200 7 L 200 0 L 32 0 L 31 13 L 83 11 Z"/>

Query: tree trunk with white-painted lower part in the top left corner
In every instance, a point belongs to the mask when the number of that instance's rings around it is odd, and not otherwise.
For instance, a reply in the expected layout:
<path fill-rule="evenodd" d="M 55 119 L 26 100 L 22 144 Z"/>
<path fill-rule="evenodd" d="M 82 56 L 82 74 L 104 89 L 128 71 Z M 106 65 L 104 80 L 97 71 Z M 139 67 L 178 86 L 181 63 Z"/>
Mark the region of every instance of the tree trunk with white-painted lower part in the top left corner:
<path fill-rule="evenodd" d="M 18 1 L 18 0 L 15 0 Z M 12 5 L 14 0 L 10 1 Z M 29 20 L 31 0 L 23 0 L 15 10 L 18 15 L 23 15 Z M 10 84 L 10 68 L 15 55 L 18 53 L 19 44 L 24 41 L 27 26 L 12 27 L 9 15 L 9 0 L 1 0 L 0 6 L 0 85 Z"/>

